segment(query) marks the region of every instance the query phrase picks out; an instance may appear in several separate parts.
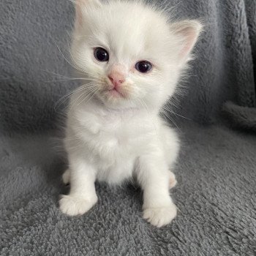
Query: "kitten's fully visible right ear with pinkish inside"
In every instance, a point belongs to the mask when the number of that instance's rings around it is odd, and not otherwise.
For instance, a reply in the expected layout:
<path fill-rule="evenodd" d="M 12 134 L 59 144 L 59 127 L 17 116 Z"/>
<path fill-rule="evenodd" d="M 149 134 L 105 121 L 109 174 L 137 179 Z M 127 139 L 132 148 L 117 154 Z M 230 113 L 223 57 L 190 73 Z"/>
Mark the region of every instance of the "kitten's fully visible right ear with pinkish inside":
<path fill-rule="evenodd" d="M 182 64 L 189 60 L 189 53 L 197 42 L 203 25 L 197 20 L 184 20 L 171 24 L 171 31 L 181 39 L 180 58 Z"/>

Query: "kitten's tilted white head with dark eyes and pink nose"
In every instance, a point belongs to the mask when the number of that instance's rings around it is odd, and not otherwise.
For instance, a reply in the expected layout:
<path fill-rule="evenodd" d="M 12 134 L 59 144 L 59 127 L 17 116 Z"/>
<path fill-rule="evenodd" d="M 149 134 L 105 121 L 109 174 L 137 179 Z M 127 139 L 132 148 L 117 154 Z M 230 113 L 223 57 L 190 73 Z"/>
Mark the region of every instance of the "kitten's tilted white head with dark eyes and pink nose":
<path fill-rule="evenodd" d="M 72 59 L 87 92 L 107 107 L 160 108 L 200 33 L 196 20 L 170 23 L 142 1 L 76 0 Z"/>

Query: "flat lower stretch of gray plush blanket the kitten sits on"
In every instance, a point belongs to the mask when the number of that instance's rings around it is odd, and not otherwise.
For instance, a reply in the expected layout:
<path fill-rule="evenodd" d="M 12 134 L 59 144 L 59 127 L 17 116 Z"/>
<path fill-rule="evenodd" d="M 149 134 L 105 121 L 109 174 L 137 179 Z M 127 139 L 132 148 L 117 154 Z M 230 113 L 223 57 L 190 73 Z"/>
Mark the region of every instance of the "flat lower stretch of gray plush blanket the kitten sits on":
<path fill-rule="evenodd" d="M 178 216 L 160 229 L 142 219 L 132 186 L 97 184 L 89 213 L 64 216 L 57 201 L 68 188 L 50 136 L 1 138 L 0 255 L 255 255 L 255 136 L 192 124 L 182 132 Z"/>

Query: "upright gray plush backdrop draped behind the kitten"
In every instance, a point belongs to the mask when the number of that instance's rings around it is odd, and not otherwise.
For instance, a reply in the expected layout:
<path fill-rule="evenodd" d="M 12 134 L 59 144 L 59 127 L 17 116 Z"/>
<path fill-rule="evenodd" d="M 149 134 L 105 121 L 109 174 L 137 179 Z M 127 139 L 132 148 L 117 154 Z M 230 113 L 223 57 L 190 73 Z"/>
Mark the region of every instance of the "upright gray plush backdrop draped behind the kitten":
<path fill-rule="evenodd" d="M 179 2 L 179 3 L 178 3 Z M 255 106 L 255 1 L 168 1 L 177 18 L 200 18 L 206 24 L 195 49 L 190 78 L 183 83 L 176 113 L 211 124 L 223 102 Z M 68 32 L 71 1 L 2 0 L 0 3 L 0 129 L 55 127 L 61 108 L 54 105 L 79 83 L 49 82 L 72 75 Z M 252 48 L 253 46 L 253 48 Z M 49 71 L 49 72 L 46 72 Z M 177 102 L 176 102 L 177 103 Z"/>

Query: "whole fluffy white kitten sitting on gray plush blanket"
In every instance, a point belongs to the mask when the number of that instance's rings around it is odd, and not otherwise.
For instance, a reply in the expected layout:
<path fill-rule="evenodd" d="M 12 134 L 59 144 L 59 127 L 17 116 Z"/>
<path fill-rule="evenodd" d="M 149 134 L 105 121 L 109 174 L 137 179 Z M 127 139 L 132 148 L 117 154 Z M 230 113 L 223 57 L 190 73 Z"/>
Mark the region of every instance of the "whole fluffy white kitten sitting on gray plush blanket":
<path fill-rule="evenodd" d="M 143 218 L 167 225 L 176 217 L 169 187 L 178 155 L 176 132 L 159 111 L 174 93 L 201 25 L 170 23 L 141 1 L 77 0 L 72 59 L 85 84 L 72 95 L 64 140 L 69 195 L 61 211 L 84 214 L 97 203 L 94 181 L 143 189 Z"/>

